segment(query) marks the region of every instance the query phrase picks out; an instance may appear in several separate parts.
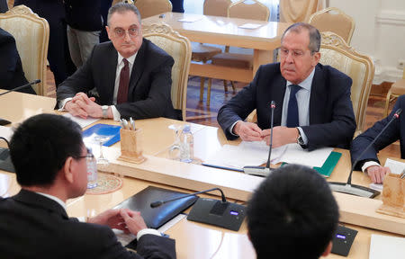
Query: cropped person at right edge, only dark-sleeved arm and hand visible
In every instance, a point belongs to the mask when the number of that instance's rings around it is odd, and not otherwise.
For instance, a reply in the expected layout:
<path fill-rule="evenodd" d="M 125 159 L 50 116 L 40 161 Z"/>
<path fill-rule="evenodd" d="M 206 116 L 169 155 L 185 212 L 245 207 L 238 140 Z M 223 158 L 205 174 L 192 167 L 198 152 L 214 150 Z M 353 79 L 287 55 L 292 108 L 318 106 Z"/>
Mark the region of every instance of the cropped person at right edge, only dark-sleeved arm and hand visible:
<path fill-rule="evenodd" d="M 375 137 L 383 130 L 383 128 L 392 120 L 392 116 L 398 109 L 402 109 L 402 115 L 398 120 L 392 121 L 392 125 L 385 129 L 383 135 L 378 138 L 374 145 L 370 147 L 365 155 L 359 157 L 361 153 L 365 150 Z M 405 95 L 401 95 L 397 103 L 395 103 L 392 112 L 388 117 L 381 121 L 375 122 L 372 128 L 365 130 L 364 133 L 360 134 L 353 140 L 352 148 L 350 149 L 350 154 L 352 156 L 352 163 L 357 159 L 359 162 L 356 165 L 355 170 L 362 170 L 367 173 L 372 179 L 373 183 L 383 183 L 385 174 L 391 173 L 390 168 L 380 165 L 377 153 L 384 147 L 392 144 L 393 142 L 400 139 L 401 145 L 401 158 L 405 159 L 405 118 L 403 117 L 403 112 L 405 111 Z"/>

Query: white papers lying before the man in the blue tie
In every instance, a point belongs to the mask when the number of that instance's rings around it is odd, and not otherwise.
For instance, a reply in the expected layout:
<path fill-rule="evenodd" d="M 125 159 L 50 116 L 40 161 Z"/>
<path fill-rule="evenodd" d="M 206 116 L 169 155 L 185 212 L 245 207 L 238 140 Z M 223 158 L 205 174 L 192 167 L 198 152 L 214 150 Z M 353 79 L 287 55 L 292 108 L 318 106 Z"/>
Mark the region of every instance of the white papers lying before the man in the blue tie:
<path fill-rule="evenodd" d="M 238 146 L 222 146 L 204 163 L 238 169 L 245 165 L 263 165 L 267 161 L 268 149 L 265 141 L 242 141 Z M 298 144 L 288 144 L 273 148 L 270 163 L 285 162 L 320 167 L 325 163 L 332 150 L 332 147 L 323 147 L 307 151 Z"/>

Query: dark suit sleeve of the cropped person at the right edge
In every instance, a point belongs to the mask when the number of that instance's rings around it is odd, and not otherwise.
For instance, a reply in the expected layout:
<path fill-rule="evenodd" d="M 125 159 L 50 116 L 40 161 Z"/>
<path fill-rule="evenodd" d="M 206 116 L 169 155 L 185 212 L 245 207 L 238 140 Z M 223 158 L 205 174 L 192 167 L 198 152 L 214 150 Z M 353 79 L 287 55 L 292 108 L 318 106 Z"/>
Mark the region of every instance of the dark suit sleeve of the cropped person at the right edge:
<path fill-rule="evenodd" d="M 392 125 L 390 125 L 378 138 L 374 145 L 370 147 L 367 151 L 365 151 L 365 155 L 359 157 L 361 153 L 365 150 L 375 137 L 383 130 L 383 128 L 391 121 L 393 114 L 399 109 L 402 109 L 402 114 L 399 119 L 392 121 Z M 387 147 L 388 145 L 392 144 L 393 142 L 400 139 L 401 145 L 401 158 L 405 158 L 405 118 L 403 117 L 405 111 L 405 95 L 401 95 L 397 103 L 395 103 L 394 108 L 392 109 L 391 114 L 384 118 L 381 121 L 375 122 L 372 128 L 365 130 L 363 134 L 360 134 L 353 140 L 352 148 L 350 150 L 350 154 L 352 156 L 352 163 L 356 161 L 356 159 L 360 158 L 360 161 L 356 165 L 356 170 L 361 170 L 362 166 L 367 161 L 375 161 L 380 163 L 377 157 L 378 151 Z"/>

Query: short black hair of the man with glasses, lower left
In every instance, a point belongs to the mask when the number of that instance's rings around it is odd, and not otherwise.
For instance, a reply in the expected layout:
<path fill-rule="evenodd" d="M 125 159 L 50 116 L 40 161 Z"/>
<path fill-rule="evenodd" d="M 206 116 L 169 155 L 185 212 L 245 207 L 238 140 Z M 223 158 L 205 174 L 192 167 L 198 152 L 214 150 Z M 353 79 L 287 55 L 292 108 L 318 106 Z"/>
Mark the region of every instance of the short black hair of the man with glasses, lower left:
<path fill-rule="evenodd" d="M 83 146 L 82 129 L 64 116 L 40 114 L 23 121 L 10 141 L 17 182 L 52 184 L 67 157 L 81 156 Z"/>

